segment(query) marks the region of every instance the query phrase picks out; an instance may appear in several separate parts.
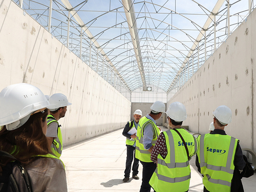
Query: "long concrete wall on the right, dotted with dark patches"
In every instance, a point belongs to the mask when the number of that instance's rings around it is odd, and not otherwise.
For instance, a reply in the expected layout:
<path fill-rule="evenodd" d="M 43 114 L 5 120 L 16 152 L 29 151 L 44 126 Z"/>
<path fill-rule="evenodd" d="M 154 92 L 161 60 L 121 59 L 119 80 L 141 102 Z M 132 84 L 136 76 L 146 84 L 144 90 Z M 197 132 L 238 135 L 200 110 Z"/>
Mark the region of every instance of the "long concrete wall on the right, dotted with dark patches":
<path fill-rule="evenodd" d="M 174 101 L 186 106 L 184 125 L 194 133 L 208 133 L 212 112 L 219 105 L 232 110 L 228 135 L 240 139 L 243 147 L 256 150 L 255 116 L 256 12 L 253 11 L 204 65 L 184 84 Z"/>

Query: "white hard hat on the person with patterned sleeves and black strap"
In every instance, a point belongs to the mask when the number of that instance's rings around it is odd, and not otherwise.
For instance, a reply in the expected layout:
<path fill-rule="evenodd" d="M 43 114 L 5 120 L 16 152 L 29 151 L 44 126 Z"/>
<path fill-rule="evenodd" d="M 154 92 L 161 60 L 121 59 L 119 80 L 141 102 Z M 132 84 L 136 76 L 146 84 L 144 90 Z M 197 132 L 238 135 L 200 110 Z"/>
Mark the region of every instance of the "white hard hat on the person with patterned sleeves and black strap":
<path fill-rule="evenodd" d="M 186 108 L 181 102 L 173 102 L 170 104 L 166 114 L 175 122 L 185 121 L 187 118 Z"/>

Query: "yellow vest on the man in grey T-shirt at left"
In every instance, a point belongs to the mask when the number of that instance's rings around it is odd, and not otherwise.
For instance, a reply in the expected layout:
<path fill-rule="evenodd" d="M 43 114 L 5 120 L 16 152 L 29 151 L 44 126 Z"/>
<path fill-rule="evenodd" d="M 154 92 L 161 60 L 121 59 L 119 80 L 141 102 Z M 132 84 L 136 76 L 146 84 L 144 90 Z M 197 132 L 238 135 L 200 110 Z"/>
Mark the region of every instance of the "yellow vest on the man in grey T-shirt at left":
<path fill-rule="evenodd" d="M 51 149 L 52 149 L 52 152 L 54 153 L 54 155 L 56 155 L 56 157 L 59 158 L 61 156 L 61 152 L 62 152 L 62 135 L 61 135 L 61 131 L 60 131 L 60 125 L 59 125 L 58 121 L 52 115 L 48 115 L 47 116 L 47 126 L 49 126 L 52 122 L 57 122 L 57 124 L 58 124 L 58 131 L 57 131 L 58 137 L 53 140 Z"/>

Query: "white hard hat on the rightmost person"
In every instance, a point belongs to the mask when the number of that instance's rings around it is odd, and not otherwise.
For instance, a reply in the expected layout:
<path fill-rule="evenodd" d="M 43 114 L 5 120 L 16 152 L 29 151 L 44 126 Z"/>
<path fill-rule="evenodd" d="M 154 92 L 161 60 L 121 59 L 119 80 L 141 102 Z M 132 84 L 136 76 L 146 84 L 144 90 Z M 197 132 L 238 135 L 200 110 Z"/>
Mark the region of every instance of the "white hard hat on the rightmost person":
<path fill-rule="evenodd" d="M 218 106 L 212 114 L 214 114 L 216 119 L 223 125 L 231 123 L 232 111 L 226 105 Z"/>

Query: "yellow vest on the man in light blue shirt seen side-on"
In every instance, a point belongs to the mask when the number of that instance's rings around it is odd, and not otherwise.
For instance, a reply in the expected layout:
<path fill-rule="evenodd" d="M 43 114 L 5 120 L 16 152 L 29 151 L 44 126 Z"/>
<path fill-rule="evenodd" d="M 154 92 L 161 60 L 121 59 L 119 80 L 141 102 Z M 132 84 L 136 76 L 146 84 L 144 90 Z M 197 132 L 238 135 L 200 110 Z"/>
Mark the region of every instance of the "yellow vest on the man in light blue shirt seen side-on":
<path fill-rule="evenodd" d="M 144 129 L 148 124 L 152 124 L 154 130 L 154 136 L 151 142 L 153 146 L 155 146 L 157 138 L 160 134 L 160 130 L 152 120 L 146 118 L 145 116 L 140 119 L 137 127 L 135 157 L 143 162 L 153 162 L 150 159 L 151 153 L 145 150 L 143 145 Z"/>

